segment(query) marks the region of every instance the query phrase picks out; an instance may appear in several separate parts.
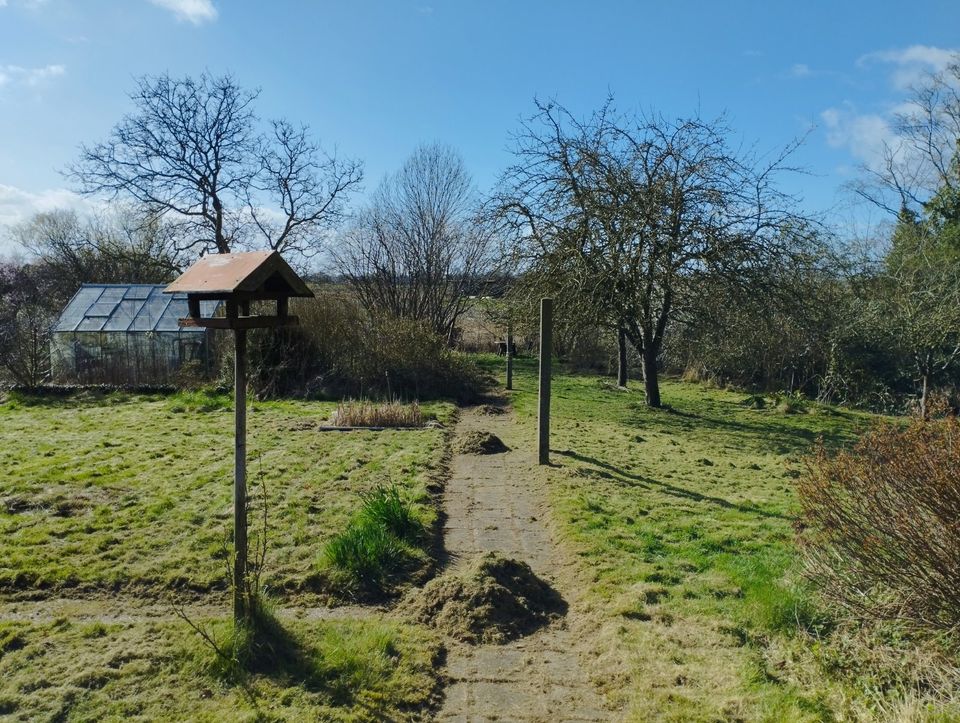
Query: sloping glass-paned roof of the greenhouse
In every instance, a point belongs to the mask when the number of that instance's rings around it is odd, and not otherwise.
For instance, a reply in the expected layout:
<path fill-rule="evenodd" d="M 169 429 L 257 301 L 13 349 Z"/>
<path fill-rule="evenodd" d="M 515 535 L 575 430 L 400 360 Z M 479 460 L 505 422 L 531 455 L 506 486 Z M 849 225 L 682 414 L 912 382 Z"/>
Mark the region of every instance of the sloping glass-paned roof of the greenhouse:
<path fill-rule="evenodd" d="M 53 331 L 170 331 L 202 334 L 202 328 L 181 328 L 189 316 L 186 294 L 164 294 L 164 284 L 84 284 L 60 314 Z M 219 301 L 200 302 L 204 316 L 214 316 Z"/>

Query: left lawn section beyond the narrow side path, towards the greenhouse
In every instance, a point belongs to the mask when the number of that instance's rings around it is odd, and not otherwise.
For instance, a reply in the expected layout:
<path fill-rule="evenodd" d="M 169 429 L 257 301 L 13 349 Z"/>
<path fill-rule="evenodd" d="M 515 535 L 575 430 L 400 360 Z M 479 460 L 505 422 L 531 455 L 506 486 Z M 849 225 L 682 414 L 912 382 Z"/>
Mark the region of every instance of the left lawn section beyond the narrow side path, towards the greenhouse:
<path fill-rule="evenodd" d="M 434 515 L 427 487 L 442 474 L 443 432 L 315 431 L 334 407 L 258 402 L 248 415 L 248 486 L 259 510 L 265 483 L 264 582 L 274 590 L 329 592 L 317 579 L 322 543 L 378 482 L 405 488 L 427 522 Z M 452 410 L 425 406 L 441 419 Z M 232 480 L 227 396 L 8 400 L 0 404 L 0 592 L 223 588 Z"/>

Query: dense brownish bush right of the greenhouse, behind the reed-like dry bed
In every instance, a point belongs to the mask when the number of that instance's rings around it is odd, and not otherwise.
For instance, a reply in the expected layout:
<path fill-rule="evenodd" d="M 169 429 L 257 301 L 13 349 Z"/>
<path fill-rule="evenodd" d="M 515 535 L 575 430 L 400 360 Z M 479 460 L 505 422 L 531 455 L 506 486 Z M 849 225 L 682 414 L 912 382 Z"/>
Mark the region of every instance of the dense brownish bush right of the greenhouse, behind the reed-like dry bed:
<path fill-rule="evenodd" d="M 297 300 L 292 313 L 298 327 L 250 334 L 251 383 L 261 397 L 466 400 L 483 386 L 477 367 L 426 326 L 370 316 L 344 291 Z"/>

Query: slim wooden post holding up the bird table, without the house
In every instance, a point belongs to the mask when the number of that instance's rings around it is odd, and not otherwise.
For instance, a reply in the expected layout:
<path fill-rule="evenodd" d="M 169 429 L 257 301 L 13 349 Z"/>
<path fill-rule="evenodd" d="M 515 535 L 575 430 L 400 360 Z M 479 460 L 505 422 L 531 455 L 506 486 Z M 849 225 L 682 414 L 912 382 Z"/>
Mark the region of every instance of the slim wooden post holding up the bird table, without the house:
<path fill-rule="evenodd" d="M 247 330 L 234 330 L 233 620 L 246 619 L 247 601 Z"/>

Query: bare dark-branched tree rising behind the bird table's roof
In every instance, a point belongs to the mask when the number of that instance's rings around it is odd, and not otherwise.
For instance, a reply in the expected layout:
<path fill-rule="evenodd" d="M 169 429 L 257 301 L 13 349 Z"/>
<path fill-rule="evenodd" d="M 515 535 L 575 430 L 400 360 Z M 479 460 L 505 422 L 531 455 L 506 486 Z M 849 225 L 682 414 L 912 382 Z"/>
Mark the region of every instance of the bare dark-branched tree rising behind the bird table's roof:
<path fill-rule="evenodd" d="M 230 76 L 145 76 L 135 110 L 82 146 L 68 172 L 82 192 L 134 200 L 179 230 L 181 249 L 243 245 L 312 256 L 362 180 L 358 161 L 328 155 L 306 126 L 260 131 L 259 91 Z"/>

